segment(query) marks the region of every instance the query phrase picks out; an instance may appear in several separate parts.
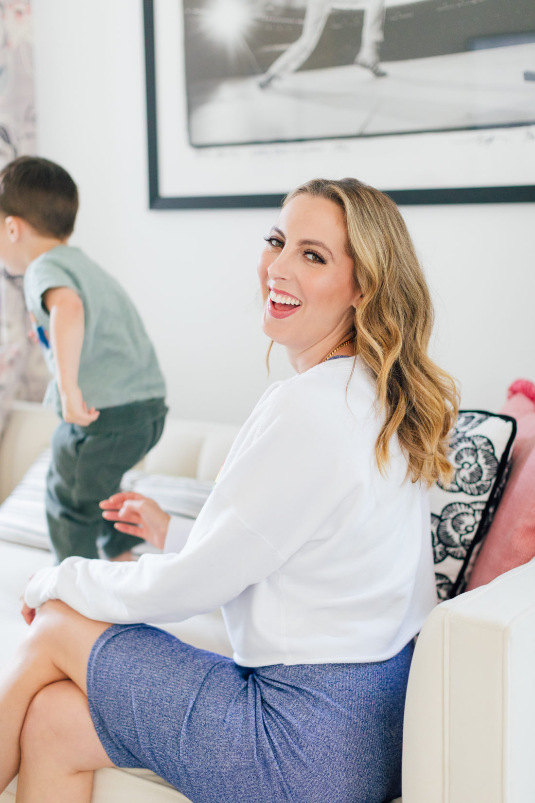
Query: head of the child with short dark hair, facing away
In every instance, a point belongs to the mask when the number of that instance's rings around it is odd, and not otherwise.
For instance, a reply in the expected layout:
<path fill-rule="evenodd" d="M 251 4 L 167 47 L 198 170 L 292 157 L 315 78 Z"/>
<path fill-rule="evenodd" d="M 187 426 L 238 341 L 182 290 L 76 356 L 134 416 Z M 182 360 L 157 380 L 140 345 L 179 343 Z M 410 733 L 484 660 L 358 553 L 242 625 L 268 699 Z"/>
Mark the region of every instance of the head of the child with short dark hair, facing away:
<path fill-rule="evenodd" d="M 66 241 L 77 211 L 78 190 L 67 170 L 39 157 L 14 159 L 0 173 L 0 260 L 23 272 L 26 255 L 33 259 L 29 241 Z"/>

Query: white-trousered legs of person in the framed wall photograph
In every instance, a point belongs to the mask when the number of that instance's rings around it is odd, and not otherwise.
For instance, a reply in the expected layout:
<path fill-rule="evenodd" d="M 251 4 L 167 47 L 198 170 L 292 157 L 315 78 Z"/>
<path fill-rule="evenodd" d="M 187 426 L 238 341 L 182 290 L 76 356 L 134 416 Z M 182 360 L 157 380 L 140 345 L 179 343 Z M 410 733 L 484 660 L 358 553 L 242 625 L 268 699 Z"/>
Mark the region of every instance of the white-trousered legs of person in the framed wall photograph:
<path fill-rule="evenodd" d="M 383 42 L 384 0 L 307 0 L 302 34 L 265 72 L 259 81 L 265 89 L 274 81 L 302 67 L 313 53 L 334 9 L 364 10 L 363 31 L 355 64 L 365 67 L 377 77 L 387 73 L 379 63 L 379 43 Z"/>

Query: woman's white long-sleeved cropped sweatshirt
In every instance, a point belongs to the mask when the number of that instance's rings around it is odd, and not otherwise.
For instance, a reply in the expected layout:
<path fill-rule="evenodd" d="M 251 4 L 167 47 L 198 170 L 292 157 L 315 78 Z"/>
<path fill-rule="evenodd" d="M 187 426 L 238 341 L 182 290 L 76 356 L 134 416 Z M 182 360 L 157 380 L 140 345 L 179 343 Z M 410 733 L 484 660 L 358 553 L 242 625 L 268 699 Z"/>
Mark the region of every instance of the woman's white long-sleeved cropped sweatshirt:
<path fill-rule="evenodd" d="M 180 552 L 67 558 L 35 574 L 27 605 L 61 599 L 116 623 L 221 605 L 244 666 L 391 658 L 436 605 L 428 495 L 395 440 L 379 473 L 374 385 L 357 361 L 347 389 L 352 364 L 266 391 Z"/>

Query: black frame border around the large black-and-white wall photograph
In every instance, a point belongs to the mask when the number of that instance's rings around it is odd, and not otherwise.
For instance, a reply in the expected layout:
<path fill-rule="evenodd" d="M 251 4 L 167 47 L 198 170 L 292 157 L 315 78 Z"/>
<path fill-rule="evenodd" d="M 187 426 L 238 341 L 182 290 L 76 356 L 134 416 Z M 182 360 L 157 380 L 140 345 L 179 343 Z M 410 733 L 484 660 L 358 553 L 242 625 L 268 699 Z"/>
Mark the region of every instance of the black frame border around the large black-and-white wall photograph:
<path fill-rule="evenodd" d="M 147 99 L 148 202 L 152 210 L 277 208 L 284 194 L 160 195 L 158 131 L 156 118 L 156 52 L 154 0 L 143 0 L 145 81 Z M 491 129 L 492 130 L 492 129 Z M 399 135 L 387 135 L 388 137 Z M 399 206 L 533 203 L 535 185 L 436 187 L 432 189 L 383 190 Z"/>

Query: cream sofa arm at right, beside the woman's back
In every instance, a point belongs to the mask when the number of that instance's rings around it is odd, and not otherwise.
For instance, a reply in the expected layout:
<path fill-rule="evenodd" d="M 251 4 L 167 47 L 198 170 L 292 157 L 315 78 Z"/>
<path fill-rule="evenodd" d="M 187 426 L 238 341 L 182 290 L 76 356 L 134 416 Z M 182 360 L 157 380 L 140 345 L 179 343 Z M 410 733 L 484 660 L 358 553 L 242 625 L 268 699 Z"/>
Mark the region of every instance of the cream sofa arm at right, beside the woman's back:
<path fill-rule="evenodd" d="M 407 688 L 403 803 L 525 803 L 535 789 L 535 560 L 438 605 Z"/>

